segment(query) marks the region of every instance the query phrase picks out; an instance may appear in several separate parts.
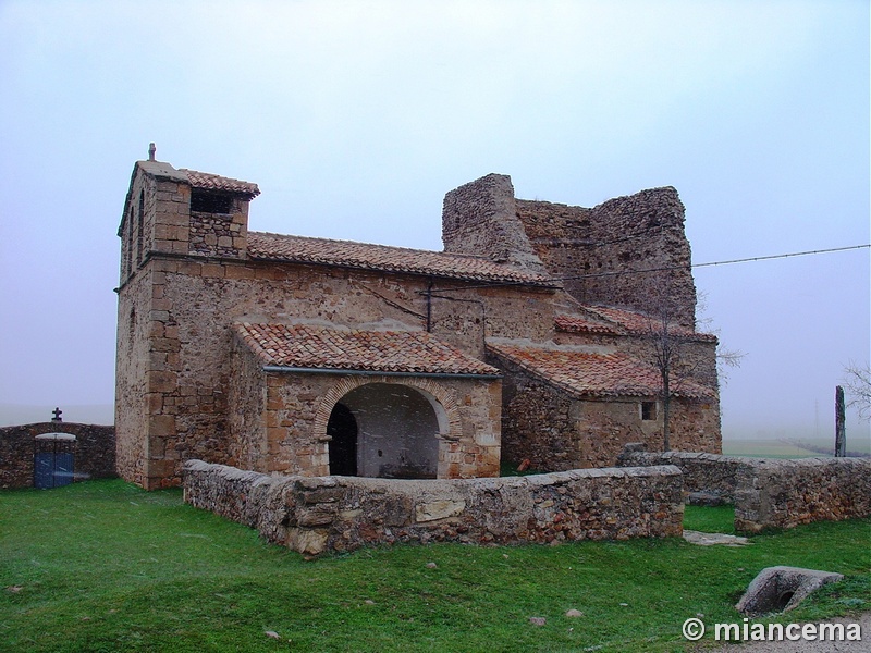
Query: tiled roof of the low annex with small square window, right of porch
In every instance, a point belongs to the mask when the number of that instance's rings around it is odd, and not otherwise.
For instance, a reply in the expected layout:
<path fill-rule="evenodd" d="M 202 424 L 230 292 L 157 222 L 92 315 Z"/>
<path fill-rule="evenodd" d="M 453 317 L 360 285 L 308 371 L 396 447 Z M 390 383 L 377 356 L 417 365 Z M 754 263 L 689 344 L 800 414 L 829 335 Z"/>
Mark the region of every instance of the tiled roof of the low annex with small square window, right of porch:
<path fill-rule="evenodd" d="M 652 397 L 662 387 L 658 370 L 627 354 L 597 354 L 571 348 L 487 343 L 488 349 L 531 374 L 578 395 L 594 397 Z M 710 399 L 716 392 L 684 381 L 673 389 L 678 397 Z"/>

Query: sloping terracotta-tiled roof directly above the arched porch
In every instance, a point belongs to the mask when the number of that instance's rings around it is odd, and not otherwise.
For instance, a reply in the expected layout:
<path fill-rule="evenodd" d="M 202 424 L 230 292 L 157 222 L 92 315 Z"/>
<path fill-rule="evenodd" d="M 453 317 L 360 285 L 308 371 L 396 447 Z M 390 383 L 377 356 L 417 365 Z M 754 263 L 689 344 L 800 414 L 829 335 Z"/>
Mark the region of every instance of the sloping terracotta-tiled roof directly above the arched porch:
<path fill-rule="evenodd" d="M 240 322 L 236 333 L 265 365 L 307 369 L 499 374 L 422 331 L 364 331 Z"/>

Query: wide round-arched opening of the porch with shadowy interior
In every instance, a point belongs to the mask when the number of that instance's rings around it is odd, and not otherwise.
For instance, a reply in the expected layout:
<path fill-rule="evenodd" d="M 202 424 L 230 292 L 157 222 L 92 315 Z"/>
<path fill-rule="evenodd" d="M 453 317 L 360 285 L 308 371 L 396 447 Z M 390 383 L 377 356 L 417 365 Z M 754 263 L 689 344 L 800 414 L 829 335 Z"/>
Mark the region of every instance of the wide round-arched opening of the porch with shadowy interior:
<path fill-rule="evenodd" d="M 368 383 L 345 394 L 327 424 L 330 473 L 434 479 L 447 416 L 429 393 L 400 383 Z"/>

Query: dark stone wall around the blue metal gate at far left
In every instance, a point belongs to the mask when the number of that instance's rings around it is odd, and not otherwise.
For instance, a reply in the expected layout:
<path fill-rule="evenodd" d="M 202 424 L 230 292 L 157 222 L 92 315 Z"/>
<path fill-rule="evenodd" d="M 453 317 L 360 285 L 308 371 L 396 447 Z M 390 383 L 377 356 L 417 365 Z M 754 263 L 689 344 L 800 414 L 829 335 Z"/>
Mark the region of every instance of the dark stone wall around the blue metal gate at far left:
<path fill-rule="evenodd" d="M 42 433 L 75 435 L 76 478 L 105 478 L 115 475 L 114 427 L 39 422 L 0 428 L 0 488 L 33 488 L 34 439 Z"/>

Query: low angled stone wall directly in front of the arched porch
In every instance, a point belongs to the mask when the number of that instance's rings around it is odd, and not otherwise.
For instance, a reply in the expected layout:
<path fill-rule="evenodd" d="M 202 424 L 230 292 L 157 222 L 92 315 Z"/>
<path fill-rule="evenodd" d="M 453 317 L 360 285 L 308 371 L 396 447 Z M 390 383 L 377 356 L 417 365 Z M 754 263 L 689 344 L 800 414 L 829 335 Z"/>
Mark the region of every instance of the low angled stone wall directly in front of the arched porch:
<path fill-rule="evenodd" d="M 396 542 L 556 543 L 677 537 L 673 466 L 404 481 L 270 477 L 188 460 L 185 501 L 306 555 Z"/>

